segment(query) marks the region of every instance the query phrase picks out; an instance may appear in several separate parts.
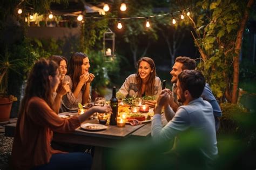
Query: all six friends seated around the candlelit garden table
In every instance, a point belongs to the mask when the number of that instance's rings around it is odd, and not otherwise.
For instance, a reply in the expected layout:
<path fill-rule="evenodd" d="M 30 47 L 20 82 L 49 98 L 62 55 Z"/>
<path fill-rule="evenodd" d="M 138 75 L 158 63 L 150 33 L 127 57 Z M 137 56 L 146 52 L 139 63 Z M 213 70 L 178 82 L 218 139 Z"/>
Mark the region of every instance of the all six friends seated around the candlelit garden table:
<path fill-rule="evenodd" d="M 195 70 L 196 62 L 189 57 L 176 58 L 170 72 L 172 90 L 162 90 L 151 58 L 140 58 L 137 66 L 137 73 L 126 78 L 118 93 L 124 97 L 157 99 L 146 101 L 154 107 L 152 138 L 171 140 L 194 128 L 206 134 L 207 145 L 200 151 L 213 160 L 218 154 L 216 131 L 221 110 L 203 74 Z M 35 63 L 19 109 L 11 157 L 15 169 L 90 169 L 91 155 L 51 148 L 53 132 L 72 132 L 93 113 L 112 111 L 109 106 L 93 106 L 82 115 L 69 119 L 58 117 L 59 112 L 77 110 L 78 103 L 91 101 L 90 83 L 95 76 L 89 73 L 89 68 L 89 58 L 82 52 L 74 53 L 69 63 L 62 56 L 42 58 Z M 168 121 L 164 127 L 160 115 L 163 107 Z"/>

